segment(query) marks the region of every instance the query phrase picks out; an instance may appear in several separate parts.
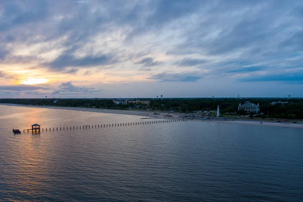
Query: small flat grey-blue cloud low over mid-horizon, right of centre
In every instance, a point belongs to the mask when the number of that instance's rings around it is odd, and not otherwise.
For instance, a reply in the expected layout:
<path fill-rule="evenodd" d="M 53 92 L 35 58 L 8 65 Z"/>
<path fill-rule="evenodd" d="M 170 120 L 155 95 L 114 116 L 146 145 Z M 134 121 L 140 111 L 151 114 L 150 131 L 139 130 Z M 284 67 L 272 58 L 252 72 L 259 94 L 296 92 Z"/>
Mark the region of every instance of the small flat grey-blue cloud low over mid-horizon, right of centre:
<path fill-rule="evenodd" d="M 175 81 L 175 82 L 194 82 L 202 77 L 197 76 L 195 73 L 159 73 L 151 75 L 148 79 L 156 79 L 160 80 L 161 82 L 169 82 L 169 81 Z"/>

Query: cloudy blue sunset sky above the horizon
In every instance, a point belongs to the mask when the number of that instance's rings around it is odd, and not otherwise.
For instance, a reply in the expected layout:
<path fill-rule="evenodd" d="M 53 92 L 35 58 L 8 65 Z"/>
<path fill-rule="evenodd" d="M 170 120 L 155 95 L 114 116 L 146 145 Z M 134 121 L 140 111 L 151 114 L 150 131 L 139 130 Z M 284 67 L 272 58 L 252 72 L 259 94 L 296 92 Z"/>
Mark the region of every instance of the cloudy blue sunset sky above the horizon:
<path fill-rule="evenodd" d="M 0 1 L 0 98 L 238 94 L 303 97 L 303 1 Z"/>

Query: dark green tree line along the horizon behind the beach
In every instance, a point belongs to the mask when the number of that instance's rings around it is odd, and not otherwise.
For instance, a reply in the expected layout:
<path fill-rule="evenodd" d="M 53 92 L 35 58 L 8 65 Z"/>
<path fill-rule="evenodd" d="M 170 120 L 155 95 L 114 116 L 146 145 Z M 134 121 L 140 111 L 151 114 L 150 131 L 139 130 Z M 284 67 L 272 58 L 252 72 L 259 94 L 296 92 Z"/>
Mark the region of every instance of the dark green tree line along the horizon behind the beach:
<path fill-rule="evenodd" d="M 277 98 L 159 98 L 148 99 L 140 98 L 140 100 L 149 100 L 150 105 L 115 105 L 113 99 L 102 98 L 3 98 L 0 103 L 20 104 L 20 105 L 37 105 L 37 106 L 58 106 L 58 107 L 82 107 L 82 108 L 104 108 L 104 109 L 129 109 L 142 108 L 163 111 L 174 111 L 182 113 L 194 113 L 196 111 L 212 111 L 217 110 L 220 106 L 220 113 L 237 113 L 239 115 L 245 112 L 238 111 L 239 104 L 246 101 L 260 105 L 260 112 L 263 117 L 271 118 L 288 118 L 303 119 L 303 99 L 277 99 Z M 55 101 L 55 102 L 54 102 Z M 272 102 L 288 102 L 288 104 L 277 103 L 271 105 Z"/>

